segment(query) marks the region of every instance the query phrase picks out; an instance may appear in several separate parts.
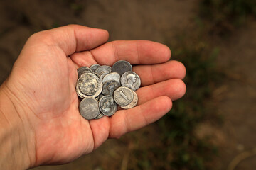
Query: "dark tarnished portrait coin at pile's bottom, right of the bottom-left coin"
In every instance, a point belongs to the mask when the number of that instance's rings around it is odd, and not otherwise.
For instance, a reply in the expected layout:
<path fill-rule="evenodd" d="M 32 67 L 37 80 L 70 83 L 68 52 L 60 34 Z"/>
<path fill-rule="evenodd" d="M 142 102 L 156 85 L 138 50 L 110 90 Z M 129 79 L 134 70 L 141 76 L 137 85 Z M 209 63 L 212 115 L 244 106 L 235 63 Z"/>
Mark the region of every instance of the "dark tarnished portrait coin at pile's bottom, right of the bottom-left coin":
<path fill-rule="evenodd" d="M 99 101 L 100 111 L 103 115 L 111 116 L 117 111 L 117 103 L 112 96 L 102 96 Z"/>

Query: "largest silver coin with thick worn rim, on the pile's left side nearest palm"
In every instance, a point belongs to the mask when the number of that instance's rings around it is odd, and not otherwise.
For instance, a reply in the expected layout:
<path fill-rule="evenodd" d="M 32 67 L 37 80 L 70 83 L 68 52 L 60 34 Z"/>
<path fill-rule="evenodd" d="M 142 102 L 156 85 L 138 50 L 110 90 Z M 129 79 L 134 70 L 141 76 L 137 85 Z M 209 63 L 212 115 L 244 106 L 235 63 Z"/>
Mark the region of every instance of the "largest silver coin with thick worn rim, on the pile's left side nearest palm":
<path fill-rule="evenodd" d="M 78 91 L 80 96 L 95 98 L 102 92 L 102 82 L 100 79 L 92 73 L 82 74 L 78 79 Z"/>

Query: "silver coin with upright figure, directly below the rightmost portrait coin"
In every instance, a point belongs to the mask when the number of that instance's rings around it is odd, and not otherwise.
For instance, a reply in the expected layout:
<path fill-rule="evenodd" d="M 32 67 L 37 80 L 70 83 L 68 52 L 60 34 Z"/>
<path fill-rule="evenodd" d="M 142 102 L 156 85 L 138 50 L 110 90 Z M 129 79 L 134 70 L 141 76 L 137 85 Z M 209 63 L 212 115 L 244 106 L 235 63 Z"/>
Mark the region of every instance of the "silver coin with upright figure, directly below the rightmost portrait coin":
<path fill-rule="evenodd" d="M 119 106 L 127 106 L 132 102 L 134 96 L 133 91 L 127 87 L 121 86 L 114 91 L 114 101 Z"/>

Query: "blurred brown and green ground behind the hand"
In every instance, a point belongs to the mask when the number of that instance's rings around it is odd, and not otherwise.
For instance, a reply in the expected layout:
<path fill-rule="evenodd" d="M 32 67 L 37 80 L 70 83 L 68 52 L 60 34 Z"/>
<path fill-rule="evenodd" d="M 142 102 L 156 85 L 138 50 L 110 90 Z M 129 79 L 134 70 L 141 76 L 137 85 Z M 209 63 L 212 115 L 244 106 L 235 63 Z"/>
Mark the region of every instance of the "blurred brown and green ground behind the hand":
<path fill-rule="evenodd" d="M 156 123 L 39 169 L 256 169 L 255 0 L 0 1 L 0 82 L 28 37 L 76 23 L 168 45 L 187 93 Z"/>

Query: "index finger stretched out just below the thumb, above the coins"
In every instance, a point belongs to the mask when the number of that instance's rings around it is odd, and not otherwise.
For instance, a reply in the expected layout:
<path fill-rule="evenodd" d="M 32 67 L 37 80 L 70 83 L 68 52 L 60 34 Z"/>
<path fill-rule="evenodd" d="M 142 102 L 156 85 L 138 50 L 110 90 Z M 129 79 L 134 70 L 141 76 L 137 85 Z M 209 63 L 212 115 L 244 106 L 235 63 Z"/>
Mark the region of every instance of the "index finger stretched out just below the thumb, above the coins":
<path fill-rule="evenodd" d="M 169 47 L 148 40 L 108 42 L 90 52 L 98 64 L 105 65 L 112 65 L 118 60 L 127 60 L 131 64 L 156 64 L 166 62 L 171 57 Z"/>

